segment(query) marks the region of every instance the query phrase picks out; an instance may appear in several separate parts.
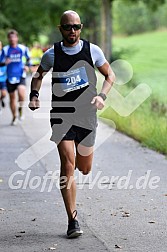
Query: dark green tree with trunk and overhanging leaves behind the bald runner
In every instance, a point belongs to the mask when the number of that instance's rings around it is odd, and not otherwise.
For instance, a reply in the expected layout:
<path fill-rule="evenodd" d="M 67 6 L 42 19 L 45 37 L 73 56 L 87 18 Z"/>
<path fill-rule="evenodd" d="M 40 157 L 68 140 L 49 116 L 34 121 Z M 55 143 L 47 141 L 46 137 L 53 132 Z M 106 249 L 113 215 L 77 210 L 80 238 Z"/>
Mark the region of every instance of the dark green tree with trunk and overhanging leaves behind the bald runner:
<path fill-rule="evenodd" d="M 115 0 L 120 1 L 120 0 Z M 136 3 L 139 0 L 123 0 Z M 140 0 L 155 10 L 165 0 Z M 60 15 L 67 9 L 77 11 L 84 23 L 83 37 L 95 44 L 101 44 L 106 58 L 112 53 L 112 11 L 114 0 L 0 0 L 0 40 L 6 42 L 8 29 L 18 30 L 21 40 L 31 44 L 39 34 L 56 34 Z M 100 29 L 101 27 L 101 29 Z M 58 39 L 53 37 L 53 40 Z M 101 40 L 101 43 L 100 43 Z M 53 41 L 52 41 L 53 42 Z"/>

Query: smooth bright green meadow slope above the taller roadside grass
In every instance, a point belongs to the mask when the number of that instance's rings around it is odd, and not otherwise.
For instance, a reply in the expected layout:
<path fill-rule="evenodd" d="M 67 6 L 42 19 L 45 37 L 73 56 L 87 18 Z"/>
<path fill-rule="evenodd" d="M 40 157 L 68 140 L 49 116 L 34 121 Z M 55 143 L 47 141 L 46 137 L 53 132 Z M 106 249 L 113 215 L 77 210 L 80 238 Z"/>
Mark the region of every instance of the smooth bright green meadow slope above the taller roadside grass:
<path fill-rule="evenodd" d="M 132 50 L 124 55 L 132 66 L 136 81 L 147 83 L 161 102 L 167 102 L 167 31 L 144 33 L 113 39 L 114 48 Z M 166 96 L 165 93 L 166 92 Z"/>

